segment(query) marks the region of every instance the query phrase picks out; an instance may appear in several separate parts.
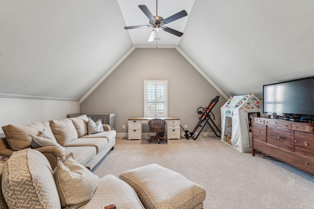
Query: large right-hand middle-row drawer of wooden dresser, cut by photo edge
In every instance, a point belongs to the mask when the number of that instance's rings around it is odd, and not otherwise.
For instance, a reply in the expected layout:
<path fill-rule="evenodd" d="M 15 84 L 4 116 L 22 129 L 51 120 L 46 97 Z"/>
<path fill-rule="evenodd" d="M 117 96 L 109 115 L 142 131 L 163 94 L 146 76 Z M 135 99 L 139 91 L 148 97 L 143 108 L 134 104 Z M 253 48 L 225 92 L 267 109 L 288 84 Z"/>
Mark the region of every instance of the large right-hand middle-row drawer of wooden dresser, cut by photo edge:
<path fill-rule="evenodd" d="M 314 157 L 313 134 L 294 131 L 294 151 Z"/>

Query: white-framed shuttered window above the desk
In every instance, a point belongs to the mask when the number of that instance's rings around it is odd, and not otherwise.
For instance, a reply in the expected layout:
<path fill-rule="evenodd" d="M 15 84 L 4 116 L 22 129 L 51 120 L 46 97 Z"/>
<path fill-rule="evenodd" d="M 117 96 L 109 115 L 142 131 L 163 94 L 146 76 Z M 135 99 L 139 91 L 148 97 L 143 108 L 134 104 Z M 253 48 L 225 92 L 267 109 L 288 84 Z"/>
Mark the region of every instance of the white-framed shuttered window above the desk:
<path fill-rule="evenodd" d="M 144 117 L 168 116 L 168 81 L 144 81 Z"/>

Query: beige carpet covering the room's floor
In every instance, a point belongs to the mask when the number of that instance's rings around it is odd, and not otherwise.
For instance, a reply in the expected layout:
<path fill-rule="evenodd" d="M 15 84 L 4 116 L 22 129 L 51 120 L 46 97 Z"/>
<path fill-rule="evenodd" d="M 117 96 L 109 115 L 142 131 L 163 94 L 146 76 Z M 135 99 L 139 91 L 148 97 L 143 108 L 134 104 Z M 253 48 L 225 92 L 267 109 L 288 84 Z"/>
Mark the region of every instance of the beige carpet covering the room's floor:
<path fill-rule="evenodd" d="M 314 209 L 314 175 L 240 153 L 217 138 L 171 139 L 167 144 L 117 138 L 114 150 L 92 171 L 119 176 L 151 163 L 205 187 L 204 209 Z"/>

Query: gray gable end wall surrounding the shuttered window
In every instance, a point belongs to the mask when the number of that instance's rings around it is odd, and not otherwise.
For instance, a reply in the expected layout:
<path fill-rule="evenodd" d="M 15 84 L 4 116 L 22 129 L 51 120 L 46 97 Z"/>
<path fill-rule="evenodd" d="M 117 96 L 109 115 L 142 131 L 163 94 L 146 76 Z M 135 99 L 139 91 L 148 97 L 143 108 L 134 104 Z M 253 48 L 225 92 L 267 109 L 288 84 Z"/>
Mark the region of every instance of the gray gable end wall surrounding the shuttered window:
<path fill-rule="evenodd" d="M 128 118 L 144 114 L 144 80 L 168 80 L 168 116 L 180 117 L 181 125 L 187 125 L 189 131 L 198 122 L 197 108 L 207 107 L 219 95 L 213 113 L 220 129 L 220 107 L 226 99 L 174 48 L 134 49 L 80 104 L 80 112 L 116 113 L 117 133 L 127 133 Z M 211 129 L 207 126 L 203 132 Z"/>

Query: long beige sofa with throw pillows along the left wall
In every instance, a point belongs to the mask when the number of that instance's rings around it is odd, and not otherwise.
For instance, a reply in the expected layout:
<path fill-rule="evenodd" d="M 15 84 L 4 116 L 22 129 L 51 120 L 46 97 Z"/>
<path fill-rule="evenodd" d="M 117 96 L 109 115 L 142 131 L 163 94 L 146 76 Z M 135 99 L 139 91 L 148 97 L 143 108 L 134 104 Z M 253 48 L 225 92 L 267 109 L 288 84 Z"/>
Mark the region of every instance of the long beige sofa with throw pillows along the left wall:
<path fill-rule="evenodd" d="M 34 148 L 56 167 L 57 157 L 64 161 L 70 153 L 78 163 L 92 169 L 114 148 L 116 131 L 86 115 L 35 122 L 27 125 L 2 126 L 0 156 L 9 158 L 14 152 Z M 46 140 L 47 139 L 47 140 Z"/>

